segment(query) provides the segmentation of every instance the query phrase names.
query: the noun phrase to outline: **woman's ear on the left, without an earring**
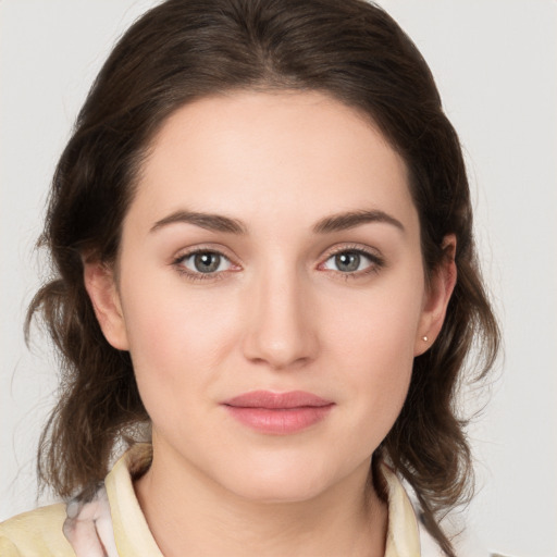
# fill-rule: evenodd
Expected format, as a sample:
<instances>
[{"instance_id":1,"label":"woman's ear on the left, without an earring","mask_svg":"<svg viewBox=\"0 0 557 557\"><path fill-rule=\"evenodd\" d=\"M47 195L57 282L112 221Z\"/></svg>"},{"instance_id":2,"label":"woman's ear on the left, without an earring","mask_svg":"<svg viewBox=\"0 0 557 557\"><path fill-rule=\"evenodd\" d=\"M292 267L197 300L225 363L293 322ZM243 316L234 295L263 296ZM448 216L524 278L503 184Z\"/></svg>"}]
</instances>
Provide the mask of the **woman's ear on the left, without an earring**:
<instances>
[{"instance_id":1,"label":"woman's ear on the left, without an earring","mask_svg":"<svg viewBox=\"0 0 557 557\"><path fill-rule=\"evenodd\" d=\"M85 289L104 338L117 350L127 350L127 333L114 271L100 261L84 259Z\"/></svg>"}]
</instances>

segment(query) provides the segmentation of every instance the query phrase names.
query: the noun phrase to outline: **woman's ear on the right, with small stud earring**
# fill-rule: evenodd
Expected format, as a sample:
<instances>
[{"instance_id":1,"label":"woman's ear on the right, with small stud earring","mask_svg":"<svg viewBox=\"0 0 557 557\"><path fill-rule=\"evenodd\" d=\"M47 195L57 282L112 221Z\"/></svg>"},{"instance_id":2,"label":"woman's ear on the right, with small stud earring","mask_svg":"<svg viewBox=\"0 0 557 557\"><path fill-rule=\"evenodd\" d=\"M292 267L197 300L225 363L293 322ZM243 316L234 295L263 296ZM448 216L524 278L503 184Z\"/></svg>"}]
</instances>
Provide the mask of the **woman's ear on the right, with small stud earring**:
<instances>
[{"instance_id":1,"label":"woman's ear on the right, with small stud earring","mask_svg":"<svg viewBox=\"0 0 557 557\"><path fill-rule=\"evenodd\" d=\"M444 252L443 261L433 271L425 292L422 314L418 326L418 336L414 343L414 356L420 356L431 347L445 321L448 301L457 283L456 248L457 240L455 235L449 234L445 236L442 246Z\"/></svg>"}]
</instances>

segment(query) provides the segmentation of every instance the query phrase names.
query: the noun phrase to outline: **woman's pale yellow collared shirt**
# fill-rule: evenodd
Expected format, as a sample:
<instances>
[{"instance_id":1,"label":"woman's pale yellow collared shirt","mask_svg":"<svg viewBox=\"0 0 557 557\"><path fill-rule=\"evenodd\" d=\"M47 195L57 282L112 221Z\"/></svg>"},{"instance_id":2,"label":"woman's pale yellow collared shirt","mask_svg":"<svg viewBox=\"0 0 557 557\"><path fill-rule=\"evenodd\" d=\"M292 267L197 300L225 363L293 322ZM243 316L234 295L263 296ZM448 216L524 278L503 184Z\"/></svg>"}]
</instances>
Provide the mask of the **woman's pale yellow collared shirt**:
<instances>
[{"instance_id":1,"label":"woman's pale yellow collared shirt","mask_svg":"<svg viewBox=\"0 0 557 557\"><path fill-rule=\"evenodd\" d=\"M114 465L92 500L57 504L0 524L2 557L163 557L135 495L133 478L151 460L137 444ZM420 533L412 505L386 466L388 529L385 557L419 557Z\"/></svg>"}]
</instances>

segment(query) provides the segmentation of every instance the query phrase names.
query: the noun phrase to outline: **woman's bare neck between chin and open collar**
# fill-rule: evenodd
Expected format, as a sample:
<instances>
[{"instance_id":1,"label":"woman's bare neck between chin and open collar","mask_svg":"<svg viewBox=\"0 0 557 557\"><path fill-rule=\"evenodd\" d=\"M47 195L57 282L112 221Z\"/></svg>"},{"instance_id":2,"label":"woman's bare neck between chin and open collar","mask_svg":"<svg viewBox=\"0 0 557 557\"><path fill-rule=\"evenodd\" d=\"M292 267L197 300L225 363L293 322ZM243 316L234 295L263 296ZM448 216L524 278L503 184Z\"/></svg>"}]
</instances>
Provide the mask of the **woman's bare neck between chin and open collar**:
<instances>
[{"instance_id":1,"label":"woman's bare neck between chin and open collar","mask_svg":"<svg viewBox=\"0 0 557 557\"><path fill-rule=\"evenodd\" d=\"M384 555L386 505L367 488L369 462L319 495L297 502L242 497L199 470L159 459L135 483L165 557ZM246 550L249 548L249 550Z\"/></svg>"}]
</instances>

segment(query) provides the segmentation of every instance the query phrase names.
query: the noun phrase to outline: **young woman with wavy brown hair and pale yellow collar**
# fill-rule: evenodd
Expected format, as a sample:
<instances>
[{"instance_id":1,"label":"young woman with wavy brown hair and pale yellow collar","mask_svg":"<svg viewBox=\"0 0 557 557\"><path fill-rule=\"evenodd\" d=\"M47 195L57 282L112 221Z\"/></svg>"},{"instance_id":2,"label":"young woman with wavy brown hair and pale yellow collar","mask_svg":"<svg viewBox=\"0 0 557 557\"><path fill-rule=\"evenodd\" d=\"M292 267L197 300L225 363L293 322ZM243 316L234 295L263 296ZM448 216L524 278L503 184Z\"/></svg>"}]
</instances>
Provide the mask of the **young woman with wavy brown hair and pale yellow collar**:
<instances>
[{"instance_id":1,"label":"young woman with wavy brown hair and pale yellow collar","mask_svg":"<svg viewBox=\"0 0 557 557\"><path fill-rule=\"evenodd\" d=\"M454 555L456 385L498 335L458 138L388 15L148 12L78 116L44 242L59 276L29 319L65 388L39 473L75 498L2 524L2 555L419 555L398 478Z\"/></svg>"}]
</instances>

